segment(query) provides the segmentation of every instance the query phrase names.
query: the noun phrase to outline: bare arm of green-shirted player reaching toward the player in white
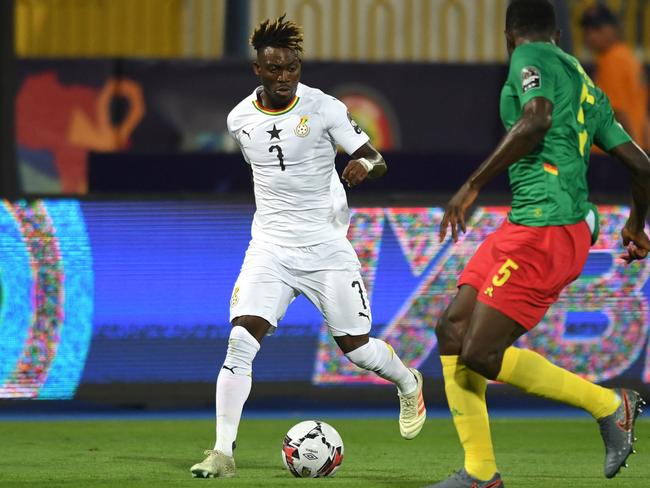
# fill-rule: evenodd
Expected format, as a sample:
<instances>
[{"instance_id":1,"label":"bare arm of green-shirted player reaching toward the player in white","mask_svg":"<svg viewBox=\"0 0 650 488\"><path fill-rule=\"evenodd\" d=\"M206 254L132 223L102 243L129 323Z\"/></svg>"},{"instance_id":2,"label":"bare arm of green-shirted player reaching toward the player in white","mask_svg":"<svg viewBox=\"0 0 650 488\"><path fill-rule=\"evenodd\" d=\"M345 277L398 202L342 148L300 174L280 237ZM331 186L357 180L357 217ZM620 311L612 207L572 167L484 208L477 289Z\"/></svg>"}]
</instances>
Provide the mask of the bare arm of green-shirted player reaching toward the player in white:
<instances>
[{"instance_id":1,"label":"bare arm of green-shirted player reaching toward the player in white","mask_svg":"<svg viewBox=\"0 0 650 488\"><path fill-rule=\"evenodd\" d=\"M449 200L440 223L440 242L447 236L449 225L452 239L454 242L458 241L458 228L460 227L462 232L466 231L465 212L474 203L481 188L508 166L535 150L551 128L552 114L553 104L543 97L533 98L524 106L521 117L494 152Z\"/></svg>"}]
</instances>

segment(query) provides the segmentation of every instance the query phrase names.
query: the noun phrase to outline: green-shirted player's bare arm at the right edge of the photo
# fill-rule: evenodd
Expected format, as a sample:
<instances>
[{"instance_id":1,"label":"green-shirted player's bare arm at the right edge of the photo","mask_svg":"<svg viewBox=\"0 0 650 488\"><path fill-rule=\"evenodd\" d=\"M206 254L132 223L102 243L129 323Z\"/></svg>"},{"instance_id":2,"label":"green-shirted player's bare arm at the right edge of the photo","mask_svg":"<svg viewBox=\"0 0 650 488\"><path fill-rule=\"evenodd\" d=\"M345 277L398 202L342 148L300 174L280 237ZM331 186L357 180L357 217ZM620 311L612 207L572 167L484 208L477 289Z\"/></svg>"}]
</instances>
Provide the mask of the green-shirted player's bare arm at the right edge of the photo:
<instances>
[{"instance_id":1,"label":"green-shirted player's bare arm at the right edge of the photo","mask_svg":"<svg viewBox=\"0 0 650 488\"><path fill-rule=\"evenodd\" d=\"M650 206L650 159L634 142L626 142L611 149L609 153L618 159L630 173L632 208L621 236L626 253L621 258L631 263L645 259L650 252L650 239L646 235L645 221Z\"/></svg>"}]
</instances>

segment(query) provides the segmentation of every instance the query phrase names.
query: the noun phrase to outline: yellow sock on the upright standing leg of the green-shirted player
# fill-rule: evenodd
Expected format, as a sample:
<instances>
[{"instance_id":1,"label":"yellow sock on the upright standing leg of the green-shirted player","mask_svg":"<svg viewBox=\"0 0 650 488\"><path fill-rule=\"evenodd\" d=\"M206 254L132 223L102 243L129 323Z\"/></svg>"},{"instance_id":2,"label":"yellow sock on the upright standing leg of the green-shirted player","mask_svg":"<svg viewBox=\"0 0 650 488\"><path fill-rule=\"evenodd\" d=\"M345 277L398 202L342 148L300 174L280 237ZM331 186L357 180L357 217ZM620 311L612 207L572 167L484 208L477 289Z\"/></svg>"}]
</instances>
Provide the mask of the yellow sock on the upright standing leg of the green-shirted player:
<instances>
[{"instance_id":1,"label":"yellow sock on the upright standing leg of the green-shirted player","mask_svg":"<svg viewBox=\"0 0 650 488\"><path fill-rule=\"evenodd\" d=\"M459 363L458 356L440 356L440 360L449 410L465 450L465 470L489 480L497 466L485 403L487 380Z\"/></svg>"}]
</instances>

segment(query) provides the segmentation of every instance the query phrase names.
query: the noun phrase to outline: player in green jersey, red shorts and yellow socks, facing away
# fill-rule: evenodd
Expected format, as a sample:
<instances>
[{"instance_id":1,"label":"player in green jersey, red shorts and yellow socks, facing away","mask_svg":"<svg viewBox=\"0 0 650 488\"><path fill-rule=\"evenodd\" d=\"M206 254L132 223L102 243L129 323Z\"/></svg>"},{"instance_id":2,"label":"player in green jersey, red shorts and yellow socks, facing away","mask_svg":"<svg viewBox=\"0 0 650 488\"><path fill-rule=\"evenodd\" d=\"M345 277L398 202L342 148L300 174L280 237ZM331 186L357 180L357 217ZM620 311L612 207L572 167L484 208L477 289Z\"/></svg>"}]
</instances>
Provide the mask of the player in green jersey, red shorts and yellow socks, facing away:
<instances>
[{"instance_id":1,"label":"player in green jersey, red shorts and yellow socks, facing away","mask_svg":"<svg viewBox=\"0 0 650 488\"><path fill-rule=\"evenodd\" d=\"M501 93L507 134L449 201L440 227L454 241L480 189L508 169L512 210L479 247L460 276L458 294L436 332L445 392L465 450L464 467L438 488L500 488L485 403L487 380L498 380L582 408L598 421L605 476L632 452L643 400L626 389L593 384L512 344L532 329L581 273L597 238L597 209L586 182L592 143L631 174L633 204L622 230L627 262L650 250L644 225L650 202L650 160L614 119L606 96L580 63L557 47L547 0L514 0L506 14L510 71Z\"/></svg>"}]
</instances>

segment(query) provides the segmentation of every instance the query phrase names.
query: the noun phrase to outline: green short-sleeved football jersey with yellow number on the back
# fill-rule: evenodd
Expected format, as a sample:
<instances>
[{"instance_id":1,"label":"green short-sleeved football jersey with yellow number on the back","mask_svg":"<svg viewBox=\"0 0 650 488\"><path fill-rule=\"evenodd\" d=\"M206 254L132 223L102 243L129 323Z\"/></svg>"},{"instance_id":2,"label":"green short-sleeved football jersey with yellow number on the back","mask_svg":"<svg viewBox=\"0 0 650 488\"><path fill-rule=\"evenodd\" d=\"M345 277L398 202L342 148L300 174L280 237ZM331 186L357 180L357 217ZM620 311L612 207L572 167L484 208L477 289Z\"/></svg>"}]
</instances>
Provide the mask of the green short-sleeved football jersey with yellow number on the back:
<instances>
[{"instance_id":1,"label":"green short-sleeved football jersey with yellow number on the back","mask_svg":"<svg viewBox=\"0 0 650 488\"><path fill-rule=\"evenodd\" d=\"M512 54L500 104L507 130L536 97L553 103L553 121L540 145L508 169L509 219L533 227L575 224L593 208L587 188L591 145L607 151L630 136L578 60L547 42L522 44Z\"/></svg>"}]
</instances>

